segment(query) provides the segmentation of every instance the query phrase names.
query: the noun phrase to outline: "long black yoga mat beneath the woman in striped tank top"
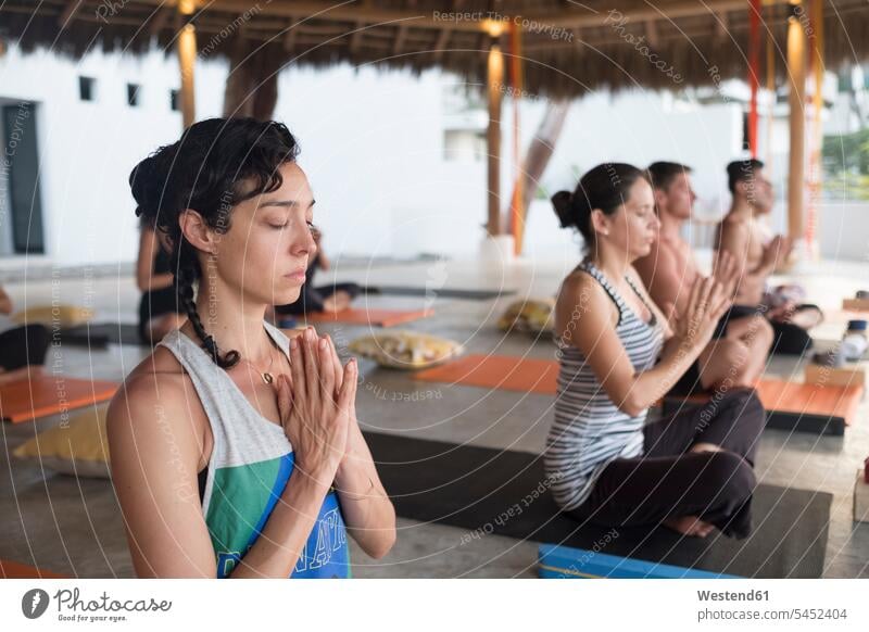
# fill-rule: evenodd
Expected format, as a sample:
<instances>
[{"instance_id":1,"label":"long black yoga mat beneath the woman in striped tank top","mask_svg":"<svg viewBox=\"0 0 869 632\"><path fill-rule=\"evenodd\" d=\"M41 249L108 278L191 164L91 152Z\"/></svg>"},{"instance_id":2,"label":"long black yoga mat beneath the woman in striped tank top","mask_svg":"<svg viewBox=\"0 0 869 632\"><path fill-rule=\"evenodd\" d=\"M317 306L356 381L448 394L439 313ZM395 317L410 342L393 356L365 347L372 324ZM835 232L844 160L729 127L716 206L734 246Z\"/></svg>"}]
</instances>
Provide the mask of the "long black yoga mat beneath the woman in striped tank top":
<instances>
[{"instance_id":1,"label":"long black yoga mat beneath the woman in striped tank top","mask_svg":"<svg viewBox=\"0 0 869 632\"><path fill-rule=\"evenodd\" d=\"M819 578L832 494L758 485L745 540L715 531L688 538L666 527L580 526L558 511L542 457L391 434L366 433L399 516L467 529L464 546L489 533L753 578ZM607 536L607 534L609 534Z\"/></svg>"}]
</instances>

